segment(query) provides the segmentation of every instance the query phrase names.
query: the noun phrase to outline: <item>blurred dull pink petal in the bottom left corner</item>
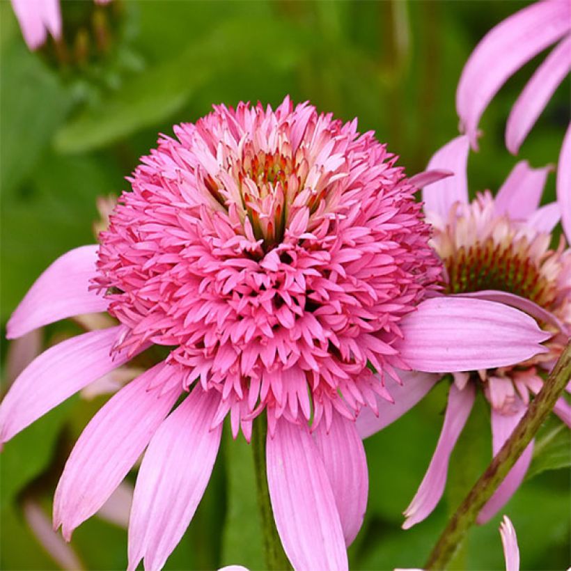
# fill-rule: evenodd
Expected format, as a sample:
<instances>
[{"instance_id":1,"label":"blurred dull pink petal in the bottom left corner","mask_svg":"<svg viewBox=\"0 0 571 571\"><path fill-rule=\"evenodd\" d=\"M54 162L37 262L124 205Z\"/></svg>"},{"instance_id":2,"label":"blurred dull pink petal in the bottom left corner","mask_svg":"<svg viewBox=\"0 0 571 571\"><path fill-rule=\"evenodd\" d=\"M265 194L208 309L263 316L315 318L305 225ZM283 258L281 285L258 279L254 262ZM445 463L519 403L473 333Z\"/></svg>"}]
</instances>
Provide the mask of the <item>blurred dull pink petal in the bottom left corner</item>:
<instances>
[{"instance_id":1,"label":"blurred dull pink petal in the bottom left corner","mask_svg":"<svg viewBox=\"0 0 571 571\"><path fill-rule=\"evenodd\" d=\"M49 517L44 513L38 502L33 500L24 501L22 513L24 514L24 519L26 519L26 524L28 524L42 547L58 564L59 568L69 571L85 569L72 546L65 542L59 533L54 531L52 522L49 521Z\"/></svg>"}]
</instances>

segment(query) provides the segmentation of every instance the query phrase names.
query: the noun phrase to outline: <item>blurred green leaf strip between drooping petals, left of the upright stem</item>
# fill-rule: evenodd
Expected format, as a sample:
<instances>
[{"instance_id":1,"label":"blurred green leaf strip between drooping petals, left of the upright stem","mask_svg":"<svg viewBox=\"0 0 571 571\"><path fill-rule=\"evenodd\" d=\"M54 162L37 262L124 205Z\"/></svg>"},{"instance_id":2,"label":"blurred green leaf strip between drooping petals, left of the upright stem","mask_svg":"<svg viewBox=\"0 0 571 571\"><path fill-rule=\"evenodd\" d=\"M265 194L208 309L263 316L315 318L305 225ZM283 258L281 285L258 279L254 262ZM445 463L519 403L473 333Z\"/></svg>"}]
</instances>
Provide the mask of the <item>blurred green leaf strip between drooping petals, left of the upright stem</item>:
<instances>
[{"instance_id":1,"label":"blurred green leaf strip between drooping petals, left of the upright stem","mask_svg":"<svg viewBox=\"0 0 571 571\"><path fill-rule=\"evenodd\" d=\"M242 435L233 440L229 430L225 437L228 510L222 540L222 564L263 569L263 535L256 501L252 447Z\"/></svg>"}]
</instances>

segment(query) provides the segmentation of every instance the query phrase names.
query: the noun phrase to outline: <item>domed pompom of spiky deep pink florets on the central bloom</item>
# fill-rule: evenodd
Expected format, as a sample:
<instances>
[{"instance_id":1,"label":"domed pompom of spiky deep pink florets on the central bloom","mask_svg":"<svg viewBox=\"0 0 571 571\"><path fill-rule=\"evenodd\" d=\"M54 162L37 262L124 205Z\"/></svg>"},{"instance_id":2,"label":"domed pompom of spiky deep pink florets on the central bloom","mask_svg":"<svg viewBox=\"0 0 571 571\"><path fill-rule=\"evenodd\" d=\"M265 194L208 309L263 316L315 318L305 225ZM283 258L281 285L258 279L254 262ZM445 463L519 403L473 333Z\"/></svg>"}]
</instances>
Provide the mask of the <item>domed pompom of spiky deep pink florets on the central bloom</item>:
<instances>
[{"instance_id":1,"label":"domed pompom of spiky deep pink florets on the central bloom","mask_svg":"<svg viewBox=\"0 0 571 571\"><path fill-rule=\"evenodd\" d=\"M315 425L384 394L399 322L439 277L414 188L357 122L314 107L215 107L143 157L101 234L94 286L121 347L222 394L249 435L267 409Z\"/></svg>"}]
</instances>

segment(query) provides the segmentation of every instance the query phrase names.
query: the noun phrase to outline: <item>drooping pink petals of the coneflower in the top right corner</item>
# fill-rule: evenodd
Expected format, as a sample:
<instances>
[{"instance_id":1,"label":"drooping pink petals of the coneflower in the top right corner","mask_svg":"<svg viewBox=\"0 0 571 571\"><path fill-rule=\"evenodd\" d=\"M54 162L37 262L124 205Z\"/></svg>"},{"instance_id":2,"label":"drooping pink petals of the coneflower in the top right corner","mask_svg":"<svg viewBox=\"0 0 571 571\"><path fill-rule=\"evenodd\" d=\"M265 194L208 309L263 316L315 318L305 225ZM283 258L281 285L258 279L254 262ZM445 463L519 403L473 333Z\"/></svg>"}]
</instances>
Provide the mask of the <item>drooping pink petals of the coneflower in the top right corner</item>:
<instances>
[{"instance_id":1,"label":"drooping pink petals of the coneflower in the top right corner","mask_svg":"<svg viewBox=\"0 0 571 571\"><path fill-rule=\"evenodd\" d=\"M558 43L557 43L558 42ZM506 125L506 146L517 155L556 88L571 70L571 2L544 0L511 15L490 30L469 57L456 91L460 129L478 148L478 123L494 95L519 68L547 47L556 47L517 98ZM559 157L557 198L571 235L571 125Z\"/></svg>"}]
</instances>

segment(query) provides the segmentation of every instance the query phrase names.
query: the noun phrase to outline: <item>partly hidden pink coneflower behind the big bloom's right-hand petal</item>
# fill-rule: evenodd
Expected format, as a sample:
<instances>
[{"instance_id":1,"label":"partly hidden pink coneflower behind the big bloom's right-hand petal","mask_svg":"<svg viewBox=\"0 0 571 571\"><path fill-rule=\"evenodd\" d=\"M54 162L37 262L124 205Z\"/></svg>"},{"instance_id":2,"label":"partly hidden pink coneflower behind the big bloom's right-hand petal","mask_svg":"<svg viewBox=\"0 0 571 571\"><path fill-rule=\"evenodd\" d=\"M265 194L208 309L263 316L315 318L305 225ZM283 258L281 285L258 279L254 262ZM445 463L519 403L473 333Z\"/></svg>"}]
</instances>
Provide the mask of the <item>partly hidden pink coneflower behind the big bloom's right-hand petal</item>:
<instances>
[{"instance_id":1,"label":"partly hidden pink coneflower behind the big bloom's right-hand petal","mask_svg":"<svg viewBox=\"0 0 571 571\"><path fill-rule=\"evenodd\" d=\"M560 218L558 205L538 208L549 169L531 169L520 162L495 198L486 192L469 203L468 151L467 136L441 148L432 157L429 169L449 169L457 174L423 190L425 213L435 228L430 243L444 263L444 292L517 307L533 316L549 335L542 353L509 366L435 369L435 373L453 373L454 382L435 454L405 511L405 529L428 517L439 502L448 461L471 412L476 390L482 390L490 402L495 455L522 419L530 396L541 389L541 371L554 366L571 334L571 251L563 237L556 249L550 249L551 232ZM402 387L389 389L398 407L391 411L391 405L380 403L378 418L368 409L361 411L357 419L361 436L367 437L398 418L419 402L439 378L406 373ZM571 407L564 398L558 400L554 412L571 425ZM533 441L480 511L479 523L490 519L517 490L532 452Z\"/></svg>"}]
</instances>

